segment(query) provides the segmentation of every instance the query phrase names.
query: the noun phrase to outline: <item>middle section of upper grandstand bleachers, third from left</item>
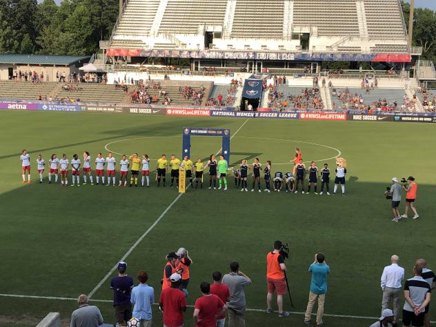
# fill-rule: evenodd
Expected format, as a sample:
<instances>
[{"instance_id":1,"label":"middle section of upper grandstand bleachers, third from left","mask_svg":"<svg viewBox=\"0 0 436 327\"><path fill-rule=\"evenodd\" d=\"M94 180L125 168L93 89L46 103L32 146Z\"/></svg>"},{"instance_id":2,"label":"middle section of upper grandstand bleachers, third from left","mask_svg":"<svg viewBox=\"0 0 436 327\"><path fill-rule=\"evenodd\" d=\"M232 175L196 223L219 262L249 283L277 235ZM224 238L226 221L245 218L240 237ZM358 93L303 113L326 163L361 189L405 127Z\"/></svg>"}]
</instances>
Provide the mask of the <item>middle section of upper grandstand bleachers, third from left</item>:
<instances>
[{"instance_id":1,"label":"middle section of upper grandstand bleachers, third from left","mask_svg":"<svg viewBox=\"0 0 436 327\"><path fill-rule=\"evenodd\" d=\"M233 19L232 37L282 39L283 21L283 1L238 0Z\"/></svg>"}]
</instances>

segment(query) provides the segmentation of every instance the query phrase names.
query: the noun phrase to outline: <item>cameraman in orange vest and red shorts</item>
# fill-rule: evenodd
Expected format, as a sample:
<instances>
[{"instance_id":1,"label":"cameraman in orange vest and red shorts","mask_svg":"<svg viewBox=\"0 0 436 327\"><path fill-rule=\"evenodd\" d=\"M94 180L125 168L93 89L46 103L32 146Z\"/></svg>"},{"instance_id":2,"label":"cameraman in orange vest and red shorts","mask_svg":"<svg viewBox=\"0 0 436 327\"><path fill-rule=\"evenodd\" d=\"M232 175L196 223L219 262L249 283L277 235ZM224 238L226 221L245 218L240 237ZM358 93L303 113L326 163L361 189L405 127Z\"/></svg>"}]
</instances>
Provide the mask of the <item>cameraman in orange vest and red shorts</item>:
<instances>
[{"instance_id":1,"label":"cameraman in orange vest and red shorts","mask_svg":"<svg viewBox=\"0 0 436 327\"><path fill-rule=\"evenodd\" d=\"M266 295L266 312L273 313L271 302L273 294L277 293L277 306L279 307L279 317L287 317L288 312L283 310L283 295L286 294L285 280L285 259L280 250L283 244L281 241L274 242L274 249L266 255L266 284L268 286L268 295Z\"/></svg>"}]
</instances>

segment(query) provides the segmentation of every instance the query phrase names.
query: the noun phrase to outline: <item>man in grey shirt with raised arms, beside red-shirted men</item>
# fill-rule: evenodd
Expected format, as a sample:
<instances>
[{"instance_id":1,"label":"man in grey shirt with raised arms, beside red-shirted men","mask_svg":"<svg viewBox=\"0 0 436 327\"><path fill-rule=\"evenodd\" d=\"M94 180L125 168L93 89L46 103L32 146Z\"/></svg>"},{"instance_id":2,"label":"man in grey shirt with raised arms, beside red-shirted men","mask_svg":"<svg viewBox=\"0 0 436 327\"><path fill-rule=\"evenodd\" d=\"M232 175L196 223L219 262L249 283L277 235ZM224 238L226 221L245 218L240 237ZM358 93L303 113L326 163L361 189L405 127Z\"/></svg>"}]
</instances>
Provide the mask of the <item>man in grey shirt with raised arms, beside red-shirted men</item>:
<instances>
[{"instance_id":1,"label":"man in grey shirt with raised arms, beside red-shirted men","mask_svg":"<svg viewBox=\"0 0 436 327\"><path fill-rule=\"evenodd\" d=\"M244 287L251 284L251 279L239 270L239 264L233 261L230 264L230 273L224 275L222 283L230 290L230 299L227 302L228 327L244 327L246 312L246 297Z\"/></svg>"}]
</instances>

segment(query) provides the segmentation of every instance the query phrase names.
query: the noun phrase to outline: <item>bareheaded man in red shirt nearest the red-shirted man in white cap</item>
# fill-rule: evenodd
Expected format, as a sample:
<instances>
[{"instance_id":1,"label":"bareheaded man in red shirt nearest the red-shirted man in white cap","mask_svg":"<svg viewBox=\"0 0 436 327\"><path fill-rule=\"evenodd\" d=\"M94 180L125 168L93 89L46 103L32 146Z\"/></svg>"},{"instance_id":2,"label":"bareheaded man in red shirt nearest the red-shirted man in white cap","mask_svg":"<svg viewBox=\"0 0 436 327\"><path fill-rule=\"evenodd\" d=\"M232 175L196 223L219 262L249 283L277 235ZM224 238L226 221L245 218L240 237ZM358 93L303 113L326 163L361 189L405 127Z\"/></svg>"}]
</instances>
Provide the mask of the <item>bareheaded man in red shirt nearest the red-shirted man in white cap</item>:
<instances>
[{"instance_id":1,"label":"bareheaded man in red shirt nearest the red-shirted man in white cap","mask_svg":"<svg viewBox=\"0 0 436 327\"><path fill-rule=\"evenodd\" d=\"M210 284L203 281L200 284L202 297L195 301L194 322L196 327L216 327L217 317L226 312L226 304L217 295L210 294ZM218 314L217 314L217 311Z\"/></svg>"}]
</instances>

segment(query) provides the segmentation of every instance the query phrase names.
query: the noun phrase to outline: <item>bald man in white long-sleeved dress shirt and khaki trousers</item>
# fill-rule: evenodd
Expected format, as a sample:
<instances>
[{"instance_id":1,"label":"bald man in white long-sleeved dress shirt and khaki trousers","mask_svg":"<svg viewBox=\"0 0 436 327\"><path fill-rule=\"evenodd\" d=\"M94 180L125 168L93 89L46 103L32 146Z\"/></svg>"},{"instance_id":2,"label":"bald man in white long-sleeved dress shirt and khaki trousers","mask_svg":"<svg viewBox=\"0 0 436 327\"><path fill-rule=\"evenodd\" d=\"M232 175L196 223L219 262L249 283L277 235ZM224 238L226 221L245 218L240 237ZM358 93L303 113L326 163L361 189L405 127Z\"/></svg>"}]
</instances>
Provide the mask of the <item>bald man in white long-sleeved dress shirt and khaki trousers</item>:
<instances>
[{"instance_id":1,"label":"bald man in white long-sleeved dress shirt and khaki trousers","mask_svg":"<svg viewBox=\"0 0 436 327\"><path fill-rule=\"evenodd\" d=\"M398 324L399 320L399 294L402 290L402 280L404 279L404 268L398 266L399 257L393 255L390 257L390 266L384 267L381 275L381 290L383 290L383 299L381 300L381 311L387 309L390 301L393 300L393 326Z\"/></svg>"}]
</instances>

